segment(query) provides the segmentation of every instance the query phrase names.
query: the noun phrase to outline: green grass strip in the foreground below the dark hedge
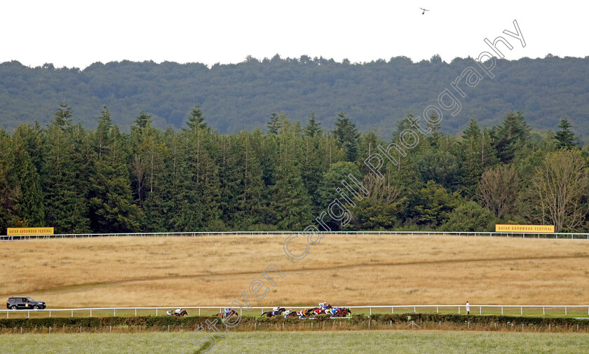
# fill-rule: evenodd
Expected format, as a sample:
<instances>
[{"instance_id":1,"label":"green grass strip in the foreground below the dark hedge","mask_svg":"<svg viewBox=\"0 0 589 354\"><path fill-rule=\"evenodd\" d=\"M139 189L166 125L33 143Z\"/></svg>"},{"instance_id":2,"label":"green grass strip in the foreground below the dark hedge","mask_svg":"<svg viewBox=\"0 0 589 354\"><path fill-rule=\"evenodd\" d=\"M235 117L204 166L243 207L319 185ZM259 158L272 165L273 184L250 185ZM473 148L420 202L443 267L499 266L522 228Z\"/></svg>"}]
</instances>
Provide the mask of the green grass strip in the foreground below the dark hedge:
<instances>
[{"instance_id":1,"label":"green grass strip in the foreground below the dark hedge","mask_svg":"<svg viewBox=\"0 0 589 354\"><path fill-rule=\"evenodd\" d=\"M4 334L1 353L196 353L189 332ZM587 334L508 332L231 332L209 353L588 353Z\"/></svg>"}]
</instances>

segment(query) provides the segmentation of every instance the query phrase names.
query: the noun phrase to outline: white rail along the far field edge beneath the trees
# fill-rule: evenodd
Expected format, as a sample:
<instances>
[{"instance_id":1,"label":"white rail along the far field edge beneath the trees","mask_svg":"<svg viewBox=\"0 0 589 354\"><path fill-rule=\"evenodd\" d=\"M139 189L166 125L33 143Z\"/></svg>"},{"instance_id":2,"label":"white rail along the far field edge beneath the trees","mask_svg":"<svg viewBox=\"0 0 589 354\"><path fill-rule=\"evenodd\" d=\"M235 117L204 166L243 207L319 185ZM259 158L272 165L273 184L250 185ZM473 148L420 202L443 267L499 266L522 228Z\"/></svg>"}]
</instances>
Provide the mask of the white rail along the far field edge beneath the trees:
<instances>
[{"instance_id":1,"label":"white rail along the far field edge beneath the trees","mask_svg":"<svg viewBox=\"0 0 589 354\"><path fill-rule=\"evenodd\" d=\"M303 233L303 231L219 231L219 232L159 232L159 233L59 233L55 235L22 235L22 236L0 236L0 240L30 240L36 238L79 238L79 237L112 237L112 236L135 236L135 237L198 237L212 235L288 235L291 233ZM377 234L377 235L457 235L457 236L502 236L502 237L532 237L532 238L567 238L567 239L586 239L589 240L589 233L543 233L543 232L460 232L460 231L330 231L330 234Z\"/></svg>"}]
</instances>

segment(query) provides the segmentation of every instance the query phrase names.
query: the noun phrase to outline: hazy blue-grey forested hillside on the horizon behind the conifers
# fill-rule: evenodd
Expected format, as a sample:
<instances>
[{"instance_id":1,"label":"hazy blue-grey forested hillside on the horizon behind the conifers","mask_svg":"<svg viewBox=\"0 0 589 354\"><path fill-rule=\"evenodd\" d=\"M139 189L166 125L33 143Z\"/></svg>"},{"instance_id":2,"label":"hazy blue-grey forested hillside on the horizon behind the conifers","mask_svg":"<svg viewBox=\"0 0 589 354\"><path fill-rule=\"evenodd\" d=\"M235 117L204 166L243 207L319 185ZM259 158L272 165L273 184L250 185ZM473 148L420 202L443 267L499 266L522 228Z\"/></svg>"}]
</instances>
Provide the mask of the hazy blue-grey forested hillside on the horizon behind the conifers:
<instances>
[{"instance_id":1,"label":"hazy blue-grey forested hillside on the horizon behind the conifers","mask_svg":"<svg viewBox=\"0 0 589 354\"><path fill-rule=\"evenodd\" d=\"M21 123L50 123L57 104L74 107L84 128L95 128L96 112L107 105L123 132L130 132L137 112L151 114L151 125L180 128L186 112L199 102L208 124L222 134L264 128L269 112L283 111L304 124L309 114L333 126L340 111L353 117L360 131L391 136L407 114L421 114L473 59L412 62L407 57L351 63L323 57L247 57L238 64L175 62L96 62L85 69L53 64L25 67L0 64L0 128L13 132ZM589 139L589 57L497 60L494 79L485 77L466 90L461 112L442 124L456 135L477 118L481 127L501 123L506 111L526 112L534 129L557 130L568 118L583 142Z\"/></svg>"}]
</instances>

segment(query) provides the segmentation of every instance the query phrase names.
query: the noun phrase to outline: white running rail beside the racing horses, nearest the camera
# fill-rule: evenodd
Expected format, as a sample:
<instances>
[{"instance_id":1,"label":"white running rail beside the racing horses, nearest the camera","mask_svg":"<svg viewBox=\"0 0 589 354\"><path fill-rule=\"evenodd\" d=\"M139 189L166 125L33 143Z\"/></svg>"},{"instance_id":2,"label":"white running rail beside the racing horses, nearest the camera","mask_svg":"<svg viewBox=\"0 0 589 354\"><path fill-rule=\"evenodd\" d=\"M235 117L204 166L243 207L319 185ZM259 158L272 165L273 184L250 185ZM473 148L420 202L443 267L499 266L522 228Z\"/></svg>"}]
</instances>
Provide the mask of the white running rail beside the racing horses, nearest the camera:
<instances>
[{"instance_id":1,"label":"white running rail beside the racing horses, nearest the camera","mask_svg":"<svg viewBox=\"0 0 589 354\"><path fill-rule=\"evenodd\" d=\"M71 317L74 317L74 311L90 311L90 317L92 317L92 311L113 311L113 316L116 316L116 310L135 310L135 316L137 316L137 310L155 310L155 315L158 315L159 310L166 310L172 308L184 308L184 309L198 309L198 315L201 315L201 309L219 309L219 312L223 311L223 308L226 306L165 306L165 307L94 307L94 308L45 308L43 310L3 310L0 309L1 312L6 312L6 318L10 318L11 313L24 313L27 311L27 318L31 317L31 312L33 313L48 313L48 317L51 317L51 313L55 312L69 312L71 313ZM285 308L313 308L315 306L283 306ZM372 315L372 309L379 309L379 308L391 308L391 313L395 313L395 308L413 308L413 312L417 313L417 308L435 308L435 312L439 313L440 308L456 308L457 312L460 314L461 308L464 308L464 312L466 312L465 305L386 305L386 306L345 306L346 308L354 309L354 308L367 308L370 310L370 315ZM270 310L271 306L252 306L252 309L261 310L260 313L264 313L264 310ZM483 308L501 308L501 315L503 315L503 310L505 308L519 308L520 315L524 315L524 308L542 308L542 315L546 315L546 308L562 308L564 310L564 315L568 315L569 308L587 308L587 315L589 316L589 305L470 305L470 309L473 308L479 309L479 314L482 315ZM243 315L243 308L240 309L240 315ZM247 310L246 310L247 311ZM406 312L405 312L406 313Z\"/></svg>"}]
</instances>

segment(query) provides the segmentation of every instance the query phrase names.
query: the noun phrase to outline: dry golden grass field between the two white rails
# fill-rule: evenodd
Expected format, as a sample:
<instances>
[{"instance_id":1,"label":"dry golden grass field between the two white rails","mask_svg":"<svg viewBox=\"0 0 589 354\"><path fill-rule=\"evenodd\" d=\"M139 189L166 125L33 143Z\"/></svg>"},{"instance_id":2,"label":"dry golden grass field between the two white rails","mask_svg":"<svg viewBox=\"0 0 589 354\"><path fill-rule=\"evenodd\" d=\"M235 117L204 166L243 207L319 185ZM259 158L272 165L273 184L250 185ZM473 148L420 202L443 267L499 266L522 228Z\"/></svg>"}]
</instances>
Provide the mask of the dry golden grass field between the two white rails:
<instances>
[{"instance_id":1,"label":"dry golden grass field between the two white rails","mask_svg":"<svg viewBox=\"0 0 589 354\"><path fill-rule=\"evenodd\" d=\"M77 238L0 243L0 299L50 308L226 306L269 264L284 278L253 306L587 304L589 241L327 235L301 261L285 236ZM297 239L297 240L300 240ZM292 242L301 250L302 243Z\"/></svg>"}]
</instances>

